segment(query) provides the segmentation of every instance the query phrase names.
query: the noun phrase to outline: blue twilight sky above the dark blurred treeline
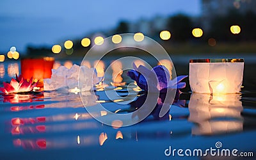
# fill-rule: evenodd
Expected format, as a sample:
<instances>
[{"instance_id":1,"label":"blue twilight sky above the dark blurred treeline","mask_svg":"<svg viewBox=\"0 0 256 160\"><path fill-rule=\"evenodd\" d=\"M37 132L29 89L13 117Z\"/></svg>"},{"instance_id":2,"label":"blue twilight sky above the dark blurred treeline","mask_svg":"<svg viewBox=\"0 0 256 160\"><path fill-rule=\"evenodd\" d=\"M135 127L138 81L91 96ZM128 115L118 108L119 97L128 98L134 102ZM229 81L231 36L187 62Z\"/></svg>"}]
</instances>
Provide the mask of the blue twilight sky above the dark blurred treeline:
<instances>
[{"instance_id":1,"label":"blue twilight sky above the dark blurred treeline","mask_svg":"<svg viewBox=\"0 0 256 160\"><path fill-rule=\"evenodd\" d=\"M136 21L180 12L199 15L200 0L1 0L0 51L15 46L22 52L28 44L50 46L115 28L122 19Z\"/></svg>"}]
</instances>

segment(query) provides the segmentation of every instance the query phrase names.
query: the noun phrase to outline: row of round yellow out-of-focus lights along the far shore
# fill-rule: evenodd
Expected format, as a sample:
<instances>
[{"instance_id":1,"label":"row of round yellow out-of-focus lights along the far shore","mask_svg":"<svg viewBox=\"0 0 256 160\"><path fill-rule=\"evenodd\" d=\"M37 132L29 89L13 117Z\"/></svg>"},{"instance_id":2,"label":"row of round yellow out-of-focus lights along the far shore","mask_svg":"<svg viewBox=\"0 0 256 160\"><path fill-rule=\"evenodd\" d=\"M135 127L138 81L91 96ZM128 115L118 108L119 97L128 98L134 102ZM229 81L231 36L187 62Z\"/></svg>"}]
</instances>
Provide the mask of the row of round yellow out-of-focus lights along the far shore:
<instances>
[{"instance_id":1,"label":"row of round yellow out-of-focus lights along the far shore","mask_svg":"<svg viewBox=\"0 0 256 160\"><path fill-rule=\"evenodd\" d=\"M230 26L230 32L234 35L238 35L241 32L241 28L238 25ZM195 38L200 38L204 35L204 31L201 28L194 28L191 33ZM170 31L165 30L165 31L160 32L159 37L161 38L161 40L166 41L166 40L170 40L170 38L172 37L172 34L171 34ZM134 34L134 40L136 42L142 42L144 40L143 33L135 33ZM104 38L102 36L96 36L94 38L93 42L94 42L95 45L102 45L102 44L104 44ZM122 36L121 35L112 36L112 42L114 44L120 44L120 42L122 42ZM81 45L83 47L89 47L90 44L92 44L90 38L86 37L86 38L83 38L81 40ZM208 44L212 47L215 46L216 45L215 38L209 38L208 39ZM73 46L74 46L74 44L71 40L65 41L64 48L65 48L66 54L70 55L70 54L73 53L73 51L74 51ZM52 46L52 52L54 54L59 54L61 52L61 50L62 50L62 48L61 48L61 45L59 45L59 44L55 44L55 45ZM20 54L19 54L19 52L16 51L15 47L11 47L10 51L8 51L6 56L9 59L18 60L19 57L20 57ZM0 62L3 62L5 59L6 59L5 55L0 54Z\"/></svg>"}]
</instances>

